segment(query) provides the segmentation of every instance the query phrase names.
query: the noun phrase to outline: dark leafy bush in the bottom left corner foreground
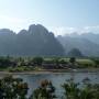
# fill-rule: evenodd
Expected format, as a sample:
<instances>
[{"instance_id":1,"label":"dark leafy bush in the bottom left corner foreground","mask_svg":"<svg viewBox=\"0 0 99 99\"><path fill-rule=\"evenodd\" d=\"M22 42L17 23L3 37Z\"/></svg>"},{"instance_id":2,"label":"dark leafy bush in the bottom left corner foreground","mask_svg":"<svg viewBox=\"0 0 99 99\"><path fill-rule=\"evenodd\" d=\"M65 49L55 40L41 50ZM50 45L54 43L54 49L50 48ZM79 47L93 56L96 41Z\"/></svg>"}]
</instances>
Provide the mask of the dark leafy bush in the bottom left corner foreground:
<instances>
[{"instance_id":1,"label":"dark leafy bush in the bottom left corner foreground","mask_svg":"<svg viewBox=\"0 0 99 99\"><path fill-rule=\"evenodd\" d=\"M0 99L26 99L28 84L12 76L0 79Z\"/></svg>"}]
</instances>

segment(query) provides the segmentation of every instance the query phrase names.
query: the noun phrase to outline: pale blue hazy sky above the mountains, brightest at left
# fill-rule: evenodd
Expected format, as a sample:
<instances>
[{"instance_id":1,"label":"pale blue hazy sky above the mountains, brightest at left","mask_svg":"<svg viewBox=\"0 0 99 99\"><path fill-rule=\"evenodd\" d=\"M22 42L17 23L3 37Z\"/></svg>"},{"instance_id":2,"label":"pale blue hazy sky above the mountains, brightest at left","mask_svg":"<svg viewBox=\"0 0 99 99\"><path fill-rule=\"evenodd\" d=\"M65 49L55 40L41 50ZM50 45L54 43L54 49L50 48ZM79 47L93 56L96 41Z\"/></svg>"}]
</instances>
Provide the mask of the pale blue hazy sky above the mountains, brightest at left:
<instances>
[{"instance_id":1,"label":"pale blue hazy sky above the mountains, brightest at left","mask_svg":"<svg viewBox=\"0 0 99 99\"><path fill-rule=\"evenodd\" d=\"M99 0L0 0L0 29L43 24L57 34L99 32Z\"/></svg>"}]
</instances>

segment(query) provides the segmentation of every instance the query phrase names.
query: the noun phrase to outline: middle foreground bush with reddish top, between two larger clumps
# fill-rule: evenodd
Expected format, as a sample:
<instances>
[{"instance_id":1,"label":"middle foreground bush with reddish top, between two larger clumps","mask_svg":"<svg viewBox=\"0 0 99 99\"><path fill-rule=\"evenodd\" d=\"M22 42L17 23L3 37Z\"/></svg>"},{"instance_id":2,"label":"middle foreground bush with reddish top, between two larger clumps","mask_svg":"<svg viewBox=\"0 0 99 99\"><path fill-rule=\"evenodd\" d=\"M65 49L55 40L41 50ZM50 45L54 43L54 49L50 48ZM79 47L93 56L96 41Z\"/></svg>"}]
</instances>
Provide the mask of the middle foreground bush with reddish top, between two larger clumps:
<instances>
[{"instance_id":1,"label":"middle foreground bush with reddish top, between two larger clumps","mask_svg":"<svg viewBox=\"0 0 99 99\"><path fill-rule=\"evenodd\" d=\"M42 80L41 86L33 91L30 99L54 99L55 87L48 80Z\"/></svg>"}]
</instances>

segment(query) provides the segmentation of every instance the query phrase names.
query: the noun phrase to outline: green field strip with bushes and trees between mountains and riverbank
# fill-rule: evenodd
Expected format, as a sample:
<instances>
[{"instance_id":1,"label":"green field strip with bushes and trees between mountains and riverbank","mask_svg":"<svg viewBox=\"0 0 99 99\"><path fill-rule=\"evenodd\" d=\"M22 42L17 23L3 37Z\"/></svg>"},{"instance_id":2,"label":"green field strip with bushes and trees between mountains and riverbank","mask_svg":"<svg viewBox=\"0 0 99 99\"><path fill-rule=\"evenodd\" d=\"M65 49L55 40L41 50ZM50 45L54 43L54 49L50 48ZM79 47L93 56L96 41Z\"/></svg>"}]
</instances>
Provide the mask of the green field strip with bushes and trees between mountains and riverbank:
<instances>
[{"instance_id":1,"label":"green field strip with bushes and trees between mountains and riverbank","mask_svg":"<svg viewBox=\"0 0 99 99\"><path fill-rule=\"evenodd\" d=\"M42 70L44 65L52 65L55 68L63 69L64 66L70 68L99 68L99 58L72 58L67 57L0 57L0 70L9 72L30 72ZM63 68L61 68L62 66Z\"/></svg>"}]
</instances>

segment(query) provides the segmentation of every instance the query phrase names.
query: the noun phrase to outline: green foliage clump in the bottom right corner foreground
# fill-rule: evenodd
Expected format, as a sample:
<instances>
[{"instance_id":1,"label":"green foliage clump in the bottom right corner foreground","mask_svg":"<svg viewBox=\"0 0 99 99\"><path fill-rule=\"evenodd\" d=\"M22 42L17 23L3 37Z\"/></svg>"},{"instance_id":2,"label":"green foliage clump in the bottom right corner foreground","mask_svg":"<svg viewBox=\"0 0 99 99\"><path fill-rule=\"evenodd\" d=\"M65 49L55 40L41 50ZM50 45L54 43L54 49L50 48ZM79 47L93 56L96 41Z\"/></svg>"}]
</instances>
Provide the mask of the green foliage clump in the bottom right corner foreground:
<instances>
[{"instance_id":1,"label":"green foliage clump in the bottom right corner foreground","mask_svg":"<svg viewBox=\"0 0 99 99\"><path fill-rule=\"evenodd\" d=\"M99 99L99 84L90 84L88 78L82 84L74 82L69 79L63 85L65 90L64 99Z\"/></svg>"}]
</instances>

